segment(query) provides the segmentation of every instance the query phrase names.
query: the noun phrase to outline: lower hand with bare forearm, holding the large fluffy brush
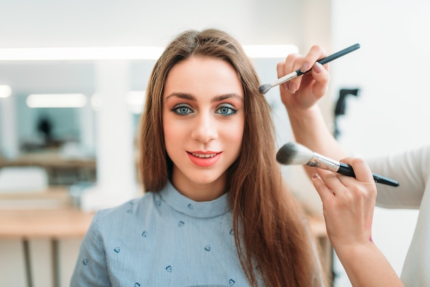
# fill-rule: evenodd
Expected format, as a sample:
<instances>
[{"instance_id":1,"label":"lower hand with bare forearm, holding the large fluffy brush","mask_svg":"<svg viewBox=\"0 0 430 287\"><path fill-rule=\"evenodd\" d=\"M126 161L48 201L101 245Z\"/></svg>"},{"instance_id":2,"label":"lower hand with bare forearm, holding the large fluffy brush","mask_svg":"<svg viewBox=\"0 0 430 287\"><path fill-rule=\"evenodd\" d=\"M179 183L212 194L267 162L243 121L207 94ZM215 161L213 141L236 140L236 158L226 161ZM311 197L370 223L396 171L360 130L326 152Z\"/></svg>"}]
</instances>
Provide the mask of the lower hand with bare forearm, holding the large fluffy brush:
<instances>
[{"instance_id":1,"label":"lower hand with bare forearm, holding the large fluffy brush","mask_svg":"<svg viewBox=\"0 0 430 287\"><path fill-rule=\"evenodd\" d=\"M323 203L328 238L352 286L404 286L372 241L376 184L368 165L343 159L356 178L315 168L313 184Z\"/></svg>"}]
</instances>

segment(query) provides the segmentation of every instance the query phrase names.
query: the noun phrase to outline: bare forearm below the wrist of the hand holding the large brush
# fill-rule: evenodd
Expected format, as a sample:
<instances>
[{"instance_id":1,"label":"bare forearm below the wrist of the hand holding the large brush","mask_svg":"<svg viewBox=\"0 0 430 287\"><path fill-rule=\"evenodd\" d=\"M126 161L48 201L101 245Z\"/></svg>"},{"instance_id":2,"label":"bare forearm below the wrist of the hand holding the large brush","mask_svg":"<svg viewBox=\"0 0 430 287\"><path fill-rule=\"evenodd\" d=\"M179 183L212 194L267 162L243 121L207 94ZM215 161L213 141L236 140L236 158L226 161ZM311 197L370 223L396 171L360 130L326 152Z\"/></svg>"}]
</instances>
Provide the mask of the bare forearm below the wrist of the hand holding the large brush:
<instances>
[{"instance_id":1,"label":"bare forearm below the wrist of the hand holding the large brush","mask_svg":"<svg viewBox=\"0 0 430 287\"><path fill-rule=\"evenodd\" d=\"M352 286L404 286L383 253L372 242L335 250Z\"/></svg>"}]
</instances>

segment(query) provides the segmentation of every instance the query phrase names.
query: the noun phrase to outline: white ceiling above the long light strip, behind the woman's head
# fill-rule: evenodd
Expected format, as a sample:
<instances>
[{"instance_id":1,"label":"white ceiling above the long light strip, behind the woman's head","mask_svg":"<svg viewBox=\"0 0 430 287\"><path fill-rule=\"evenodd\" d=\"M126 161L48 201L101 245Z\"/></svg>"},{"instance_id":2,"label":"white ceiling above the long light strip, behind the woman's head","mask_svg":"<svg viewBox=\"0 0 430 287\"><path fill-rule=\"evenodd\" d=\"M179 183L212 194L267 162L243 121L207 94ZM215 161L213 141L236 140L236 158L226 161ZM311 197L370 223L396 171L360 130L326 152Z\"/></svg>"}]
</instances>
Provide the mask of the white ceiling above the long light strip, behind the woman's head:
<instances>
[{"instance_id":1,"label":"white ceiling above the long light strip, behind the woman's head","mask_svg":"<svg viewBox=\"0 0 430 287\"><path fill-rule=\"evenodd\" d=\"M166 45L220 27L244 44L295 43L306 1L0 0L0 48Z\"/></svg>"}]
</instances>

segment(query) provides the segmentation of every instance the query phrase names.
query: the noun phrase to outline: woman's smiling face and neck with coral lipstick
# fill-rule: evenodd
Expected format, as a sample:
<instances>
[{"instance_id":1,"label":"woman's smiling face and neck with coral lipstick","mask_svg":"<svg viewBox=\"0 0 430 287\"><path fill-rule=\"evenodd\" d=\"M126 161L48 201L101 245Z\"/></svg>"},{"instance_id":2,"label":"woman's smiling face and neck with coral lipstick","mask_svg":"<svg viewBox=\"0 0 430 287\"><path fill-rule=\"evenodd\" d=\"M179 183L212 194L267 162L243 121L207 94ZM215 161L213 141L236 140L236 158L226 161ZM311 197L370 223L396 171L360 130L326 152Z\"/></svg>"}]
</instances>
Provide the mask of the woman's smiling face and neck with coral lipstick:
<instances>
[{"instance_id":1,"label":"woman's smiling face and neck with coral lipstick","mask_svg":"<svg viewBox=\"0 0 430 287\"><path fill-rule=\"evenodd\" d=\"M168 73L163 130L172 184L197 201L225 193L227 169L240 154L245 114L242 83L225 60L188 58Z\"/></svg>"}]
</instances>

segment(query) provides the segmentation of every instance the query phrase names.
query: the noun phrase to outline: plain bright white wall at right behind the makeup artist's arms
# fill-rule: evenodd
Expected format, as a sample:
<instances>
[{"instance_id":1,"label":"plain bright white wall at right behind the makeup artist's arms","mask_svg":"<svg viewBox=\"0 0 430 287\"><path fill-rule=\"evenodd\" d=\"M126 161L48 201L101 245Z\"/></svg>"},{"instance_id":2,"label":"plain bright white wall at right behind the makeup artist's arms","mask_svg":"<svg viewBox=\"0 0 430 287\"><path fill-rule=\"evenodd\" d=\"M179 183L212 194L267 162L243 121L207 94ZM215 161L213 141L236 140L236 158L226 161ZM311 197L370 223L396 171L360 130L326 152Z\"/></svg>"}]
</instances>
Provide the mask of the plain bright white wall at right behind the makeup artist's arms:
<instances>
[{"instance_id":1,"label":"plain bright white wall at right behind the makeup artist's arms","mask_svg":"<svg viewBox=\"0 0 430 287\"><path fill-rule=\"evenodd\" d=\"M334 90L361 90L339 117L339 139L351 154L367 157L430 143L429 12L429 1L332 1L333 45L361 44L354 56L332 64ZM398 274L417 216L381 208L374 214L374 242ZM348 284L342 279L338 286Z\"/></svg>"}]
</instances>

